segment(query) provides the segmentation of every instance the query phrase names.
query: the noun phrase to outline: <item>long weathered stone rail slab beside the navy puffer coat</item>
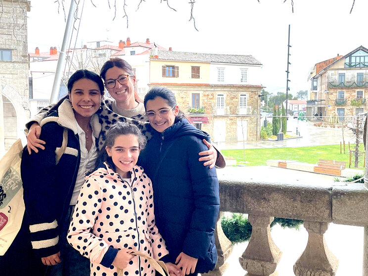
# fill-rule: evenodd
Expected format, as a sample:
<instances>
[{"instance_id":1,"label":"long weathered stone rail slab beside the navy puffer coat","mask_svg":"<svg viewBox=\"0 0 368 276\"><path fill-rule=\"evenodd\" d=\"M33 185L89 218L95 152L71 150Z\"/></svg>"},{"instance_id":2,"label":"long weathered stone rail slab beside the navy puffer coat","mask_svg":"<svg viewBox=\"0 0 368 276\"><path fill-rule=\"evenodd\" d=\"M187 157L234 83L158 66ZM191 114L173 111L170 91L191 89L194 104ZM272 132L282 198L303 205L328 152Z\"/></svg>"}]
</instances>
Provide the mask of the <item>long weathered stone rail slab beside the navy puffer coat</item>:
<instances>
[{"instance_id":1,"label":"long weathered stone rail slab beside the navy puffer coat","mask_svg":"<svg viewBox=\"0 0 368 276\"><path fill-rule=\"evenodd\" d=\"M220 179L220 202L220 210L226 212L332 221L331 186Z\"/></svg>"}]
</instances>

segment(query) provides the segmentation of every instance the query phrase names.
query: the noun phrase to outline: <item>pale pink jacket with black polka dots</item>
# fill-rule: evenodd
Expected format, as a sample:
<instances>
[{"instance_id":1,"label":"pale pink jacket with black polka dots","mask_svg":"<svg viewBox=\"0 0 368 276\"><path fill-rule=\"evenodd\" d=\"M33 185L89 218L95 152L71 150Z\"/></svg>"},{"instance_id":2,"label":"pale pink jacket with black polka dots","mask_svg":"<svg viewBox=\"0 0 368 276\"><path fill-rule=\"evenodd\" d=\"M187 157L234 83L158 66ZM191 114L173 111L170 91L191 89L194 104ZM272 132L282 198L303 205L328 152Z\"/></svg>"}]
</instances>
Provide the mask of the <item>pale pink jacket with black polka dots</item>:
<instances>
[{"instance_id":1,"label":"pale pink jacket with black polka dots","mask_svg":"<svg viewBox=\"0 0 368 276\"><path fill-rule=\"evenodd\" d=\"M91 275L117 276L112 262L120 249L135 249L158 260L169 252L155 226L153 191L143 168L131 171L131 183L106 163L81 188L68 231L68 242L91 261ZM125 276L154 276L147 260L134 257Z\"/></svg>"}]
</instances>

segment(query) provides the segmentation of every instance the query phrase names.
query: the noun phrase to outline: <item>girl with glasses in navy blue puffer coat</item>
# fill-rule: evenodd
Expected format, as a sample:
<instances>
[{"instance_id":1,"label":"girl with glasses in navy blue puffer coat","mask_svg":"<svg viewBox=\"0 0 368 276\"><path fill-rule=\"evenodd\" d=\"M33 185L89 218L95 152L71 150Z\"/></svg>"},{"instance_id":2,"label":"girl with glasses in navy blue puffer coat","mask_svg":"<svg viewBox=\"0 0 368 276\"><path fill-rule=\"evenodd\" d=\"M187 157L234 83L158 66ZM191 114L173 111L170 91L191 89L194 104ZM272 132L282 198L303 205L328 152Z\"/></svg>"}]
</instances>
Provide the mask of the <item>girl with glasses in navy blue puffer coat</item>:
<instances>
[{"instance_id":1,"label":"girl with glasses in navy blue puffer coat","mask_svg":"<svg viewBox=\"0 0 368 276\"><path fill-rule=\"evenodd\" d=\"M195 156L209 136L188 123L167 88L152 88L144 106L155 131L139 164L152 180L156 225L170 252L167 261L177 263L182 275L206 273L217 261L219 185L216 170L201 166Z\"/></svg>"}]
</instances>

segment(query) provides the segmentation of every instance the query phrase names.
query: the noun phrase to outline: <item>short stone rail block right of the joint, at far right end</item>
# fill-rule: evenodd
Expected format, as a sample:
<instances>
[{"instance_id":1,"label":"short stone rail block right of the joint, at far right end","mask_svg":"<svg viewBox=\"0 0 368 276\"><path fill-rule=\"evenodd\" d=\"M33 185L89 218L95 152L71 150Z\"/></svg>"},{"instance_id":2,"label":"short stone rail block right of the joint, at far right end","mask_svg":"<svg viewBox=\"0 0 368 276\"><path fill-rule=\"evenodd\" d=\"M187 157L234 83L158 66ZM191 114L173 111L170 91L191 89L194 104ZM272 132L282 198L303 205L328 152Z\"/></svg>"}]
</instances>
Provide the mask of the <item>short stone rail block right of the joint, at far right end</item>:
<instances>
[{"instance_id":1,"label":"short stone rail block right of the joint, at far right end","mask_svg":"<svg viewBox=\"0 0 368 276\"><path fill-rule=\"evenodd\" d=\"M362 183L333 186L332 222L336 224L368 225L368 190Z\"/></svg>"}]
</instances>

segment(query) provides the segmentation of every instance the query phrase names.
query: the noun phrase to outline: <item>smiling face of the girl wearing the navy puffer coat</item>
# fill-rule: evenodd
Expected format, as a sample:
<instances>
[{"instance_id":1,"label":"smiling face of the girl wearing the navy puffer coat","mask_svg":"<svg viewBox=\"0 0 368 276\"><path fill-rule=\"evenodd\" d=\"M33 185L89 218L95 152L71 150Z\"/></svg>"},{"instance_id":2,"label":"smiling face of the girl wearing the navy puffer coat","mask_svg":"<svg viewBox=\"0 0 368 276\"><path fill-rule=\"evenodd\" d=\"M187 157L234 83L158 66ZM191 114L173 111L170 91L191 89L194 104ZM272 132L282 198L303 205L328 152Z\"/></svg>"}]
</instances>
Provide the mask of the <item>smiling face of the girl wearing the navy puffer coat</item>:
<instances>
[{"instance_id":1,"label":"smiling face of the girl wearing the navy puffer coat","mask_svg":"<svg viewBox=\"0 0 368 276\"><path fill-rule=\"evenodd\" d=\"M145 105L146 113L155 112L156 115L148 116L149 124L158 132L164 132L167 128L174 125L175 117L179 114L178 105L172 108L162 97L155 97L148 100ZM164 115L159 115L160 110L168 110Z\"/></svg>"}]
</instances>

